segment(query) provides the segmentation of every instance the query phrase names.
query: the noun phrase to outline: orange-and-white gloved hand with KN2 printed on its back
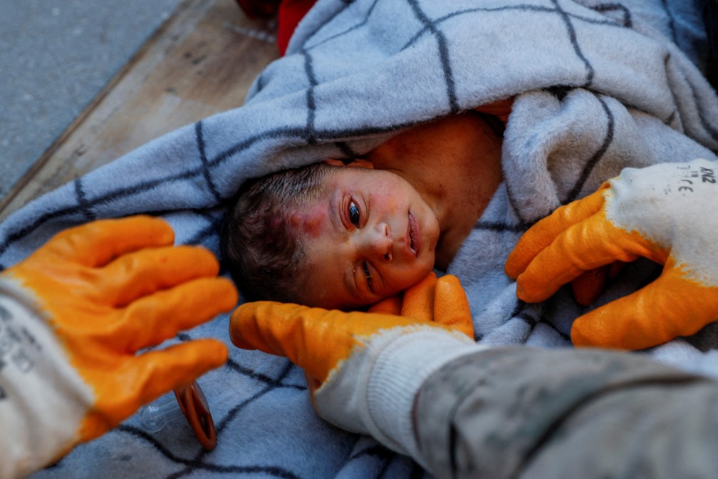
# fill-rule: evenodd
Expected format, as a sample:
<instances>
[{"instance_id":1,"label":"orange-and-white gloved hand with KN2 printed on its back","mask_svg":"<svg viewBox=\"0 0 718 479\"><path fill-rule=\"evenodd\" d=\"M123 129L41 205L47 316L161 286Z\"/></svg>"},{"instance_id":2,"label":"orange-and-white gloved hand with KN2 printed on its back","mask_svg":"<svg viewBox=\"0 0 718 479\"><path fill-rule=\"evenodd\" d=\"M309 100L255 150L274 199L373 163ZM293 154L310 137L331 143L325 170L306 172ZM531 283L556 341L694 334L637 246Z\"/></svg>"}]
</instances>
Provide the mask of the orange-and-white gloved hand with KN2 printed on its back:
<instances>
[{"instance_id":1,"label":"orange-and-white gloved hand with KN2 printed on its back","mask_svg":"<svg viewBox=\"0 0 718 479\"><path fill-rule=\"evenodd\" d=\"M539 302L582 271L643 256L661 276L575 320L574 345L642 349L694 334L718 320L717 178L704 159L625 169L533 225L505 272L520 299Z\"/></svg>"}]
</instances>

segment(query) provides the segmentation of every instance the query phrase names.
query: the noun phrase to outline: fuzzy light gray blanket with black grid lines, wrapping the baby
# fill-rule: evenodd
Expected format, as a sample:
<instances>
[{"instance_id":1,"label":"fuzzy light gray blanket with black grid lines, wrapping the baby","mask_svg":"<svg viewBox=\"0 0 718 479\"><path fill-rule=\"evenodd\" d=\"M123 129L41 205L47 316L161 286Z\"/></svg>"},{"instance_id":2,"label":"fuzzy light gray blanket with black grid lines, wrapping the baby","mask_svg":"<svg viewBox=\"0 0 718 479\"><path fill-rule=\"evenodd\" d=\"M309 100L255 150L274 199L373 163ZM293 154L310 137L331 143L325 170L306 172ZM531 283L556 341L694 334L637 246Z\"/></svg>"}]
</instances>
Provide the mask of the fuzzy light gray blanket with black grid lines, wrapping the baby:
<instances>
[{"instance_id":1,"label":"fuzzy light gray blanket with black grid lines, wrapping the baby","mask_svg":"<svg viewBox=\"0 0 718 479\"><path fill-rule=\"evenodd\" d=\"M52 233L151 213L178 243L218 251L224 203L243 180L368 152L433 118L515 96L505 182L449 271L477 340L569 346L581 308L565 292L516 300L503 261L528 225L623 167L716 159L718 98L701 75L705 34L691 0L320 0L246 105L162 136L30 203L0 225L0 266ZM231 61L231 60L229 60ZM631 267L602 302L656 274ZM229 343L227 317L177 336ZM713 368L712 331L649 353ZM414 477L421 470L317 419L302 371L232 348L200 378L218 427L203 452L182 421L149 432L132 417L37 478Z\"/></svg>"}]
</instances>

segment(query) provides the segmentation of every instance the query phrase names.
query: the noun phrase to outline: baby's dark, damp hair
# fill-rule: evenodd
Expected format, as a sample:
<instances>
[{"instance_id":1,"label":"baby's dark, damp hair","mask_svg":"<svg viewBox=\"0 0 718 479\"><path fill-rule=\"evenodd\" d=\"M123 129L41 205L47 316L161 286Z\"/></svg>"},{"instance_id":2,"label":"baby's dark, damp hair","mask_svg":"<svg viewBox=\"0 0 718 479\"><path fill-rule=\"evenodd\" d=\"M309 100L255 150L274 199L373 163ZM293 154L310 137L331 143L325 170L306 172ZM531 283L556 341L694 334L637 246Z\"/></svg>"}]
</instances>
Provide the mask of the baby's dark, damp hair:
<instances>
[{"instance_id":1,"label":"baby's dark, damp hair","mask_svg":"<svg viewBox=\"0 0 718 479\"><path fill-rule=\"evenodd\" d=\"M220 249L245 299L301 302L306 255L289 218L322 197L336 168L317 163L243 183L225 218Z\"/></svg>"}]
</instances>

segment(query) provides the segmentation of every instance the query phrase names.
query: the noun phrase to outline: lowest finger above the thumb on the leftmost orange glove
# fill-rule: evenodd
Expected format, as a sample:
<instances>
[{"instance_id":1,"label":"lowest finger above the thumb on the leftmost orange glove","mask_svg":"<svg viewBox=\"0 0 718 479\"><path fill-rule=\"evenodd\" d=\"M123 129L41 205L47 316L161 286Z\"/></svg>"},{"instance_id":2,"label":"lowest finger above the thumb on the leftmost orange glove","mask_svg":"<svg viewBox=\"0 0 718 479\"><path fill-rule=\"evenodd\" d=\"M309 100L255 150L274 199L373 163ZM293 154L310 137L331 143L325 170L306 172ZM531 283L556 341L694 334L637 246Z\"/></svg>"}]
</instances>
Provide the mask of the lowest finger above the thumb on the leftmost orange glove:
<instances>
[{"instance_id":1,"label":"lowest finger above the thumb on the leftmost orange glove","mask_svg":"<svg viewBox=\"0 0 718 479\"><path fill-rule=\"evenodd\" d=\"M129 304L118 325L108 325L113 348L136 351L157 345L177 332L208 322L237 304L237 290L225 278L200 278L165 289Z\"/></svg>"}]
</instances>

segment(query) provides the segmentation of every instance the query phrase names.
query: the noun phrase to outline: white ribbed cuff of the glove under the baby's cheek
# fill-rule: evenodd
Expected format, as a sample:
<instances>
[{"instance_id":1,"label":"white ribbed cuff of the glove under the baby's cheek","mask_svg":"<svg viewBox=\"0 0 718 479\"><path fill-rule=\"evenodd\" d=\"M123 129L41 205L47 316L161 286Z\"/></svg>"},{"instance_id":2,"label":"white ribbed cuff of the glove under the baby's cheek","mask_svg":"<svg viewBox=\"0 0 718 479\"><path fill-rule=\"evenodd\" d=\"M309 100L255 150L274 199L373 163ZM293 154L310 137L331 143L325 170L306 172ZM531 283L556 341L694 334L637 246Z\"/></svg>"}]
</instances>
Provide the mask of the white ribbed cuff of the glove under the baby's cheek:
<instances>
[{"instance_id":1,"label":"white ribbed cuff of the glove under the baby's cheek","mask_svg":"<svg viewBox=\"0 0 718 479\"><path fill-rule=\"evenodd\" d=\"M370 434L421 465L414 437L416 394L434 371L480 347L439 327L394 327L371 335L314 394L317 412L332 424Z\"/></svg>"}]
</instances>

